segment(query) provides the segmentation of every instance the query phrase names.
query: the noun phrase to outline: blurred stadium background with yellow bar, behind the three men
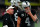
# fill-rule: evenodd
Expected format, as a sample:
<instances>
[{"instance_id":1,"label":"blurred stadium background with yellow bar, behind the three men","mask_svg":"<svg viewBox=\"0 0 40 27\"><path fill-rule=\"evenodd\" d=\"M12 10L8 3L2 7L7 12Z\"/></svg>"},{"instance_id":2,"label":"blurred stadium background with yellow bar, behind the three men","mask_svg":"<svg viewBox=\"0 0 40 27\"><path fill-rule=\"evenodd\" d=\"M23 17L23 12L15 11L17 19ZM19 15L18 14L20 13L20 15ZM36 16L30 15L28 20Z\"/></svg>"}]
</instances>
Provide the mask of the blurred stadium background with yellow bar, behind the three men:
<instances>
[{"instance_id":1,"label":"blurred stadium background with yellow bar, behind the three men","mask_svg":"<svg viewBox=\"0 0 40 27\"><path fill-rule=\"evenodd\" d=\"M0 0L0 27L2 27L2 15L4 15L5 9L11 5L11 0ZM21 0L21 1L29 1L31 3L31 9L36 11L39 22L35 23L35 27L40 27L40 0Z\"/></svg>"}]
</instances>

